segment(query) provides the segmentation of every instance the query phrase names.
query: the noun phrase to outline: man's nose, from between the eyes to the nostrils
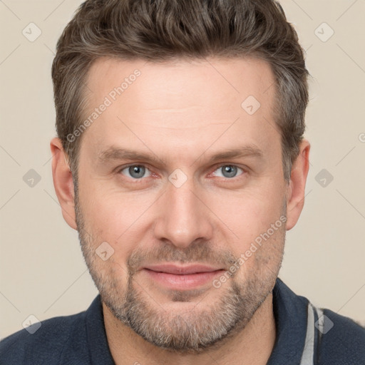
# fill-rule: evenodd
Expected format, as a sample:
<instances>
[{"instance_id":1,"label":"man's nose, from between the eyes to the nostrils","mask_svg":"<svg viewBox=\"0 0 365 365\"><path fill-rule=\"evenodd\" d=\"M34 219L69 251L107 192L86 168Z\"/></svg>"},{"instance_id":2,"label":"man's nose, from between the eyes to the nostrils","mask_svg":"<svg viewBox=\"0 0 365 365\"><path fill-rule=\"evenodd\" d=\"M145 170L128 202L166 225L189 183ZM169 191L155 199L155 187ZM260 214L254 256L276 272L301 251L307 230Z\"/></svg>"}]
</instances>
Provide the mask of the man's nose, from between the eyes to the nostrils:
<instances>
[{"instance_id":1,"label":"man's nose, from between the eyes to the nostrils","mask_svg":"<svg viewBox=\"0 0 365 365\"><path fill-rule=\"evenodd\" d=\"M180 249L196 240L212 240L212 213L205 205L201 190L187 180L183 186L168 183L158 200L154 234L157 240L170 242Z\"/></svg>"}]
</instances>

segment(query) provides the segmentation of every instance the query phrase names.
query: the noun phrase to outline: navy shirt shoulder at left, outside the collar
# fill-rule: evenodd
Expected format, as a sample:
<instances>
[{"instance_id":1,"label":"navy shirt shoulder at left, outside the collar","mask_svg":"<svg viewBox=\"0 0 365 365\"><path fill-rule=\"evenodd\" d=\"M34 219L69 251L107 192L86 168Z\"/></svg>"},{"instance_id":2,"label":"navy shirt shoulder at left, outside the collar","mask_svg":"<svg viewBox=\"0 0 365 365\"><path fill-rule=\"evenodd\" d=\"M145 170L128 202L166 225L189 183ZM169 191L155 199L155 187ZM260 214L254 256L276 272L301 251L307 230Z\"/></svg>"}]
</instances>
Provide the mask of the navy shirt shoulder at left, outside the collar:
<instances>
[{"instance_id":1,"label":"navy shirt shoulder at left, outside the collar","mask_svg":"<svg viewBox=\"0 0 365 365\"><path fill-rule=\"evenodd\" d=\"M11 334L0 341L0 364L60 364L63 351L86 349L85 315L46 319Z\"/></svg>"}]
</instances>

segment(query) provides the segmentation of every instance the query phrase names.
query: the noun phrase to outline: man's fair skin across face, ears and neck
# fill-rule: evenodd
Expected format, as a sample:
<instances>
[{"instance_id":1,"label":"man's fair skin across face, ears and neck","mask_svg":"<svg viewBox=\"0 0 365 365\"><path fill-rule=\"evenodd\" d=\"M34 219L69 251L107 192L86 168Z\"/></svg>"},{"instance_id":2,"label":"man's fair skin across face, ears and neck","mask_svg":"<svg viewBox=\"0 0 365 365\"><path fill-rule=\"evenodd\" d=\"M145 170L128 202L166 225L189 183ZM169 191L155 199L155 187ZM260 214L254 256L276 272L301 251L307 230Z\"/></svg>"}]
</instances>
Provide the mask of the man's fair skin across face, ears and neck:
<instances>
[{"instance_id":1,"label":"man's fair skin across face, ears and neck","mask_svg":"<svg viewBox=\"0 0 365 365\"><path fill-rule=\"evenodd\" d=\"M115 364L266 364L276 336L272 288L285 232L297 223L304 205L309 142L302 141L291 179L285 181L272 114L274 76L268 63L255 58L175 63L100 58L88 73L92 92L86 94L86 118L135 68L141 75L81 136L76 196L68 156L58 138L51 140L56 194L64 219L79 231L101 292ZM253 115L241 107L247 96L261 104ZM215 153L247 145L261 156L210 162ZM110 146L158 160L98 158ZM145 166L143 178L130 175L125 168L130 164ZM238 167L233 177L223 175L227 165ZM180 187L168 179L176 169L187 178ZM228 270L230 260L247 252L280 217L286 222L219 288L209 282L197 290L172 290L140 269L190 262ZM101 242L114 250L106 261L95 253ZM235 294L241 302L225 317ZM128 300L134 300L133 308ZM228 334L206 346L179 348L178 339L198 325L223 331L235 308L241 318ZM175 348L136 333L125 316L145 319L151 336L158 324L160 334L175 336Z\"/></svg>"}]
</instances>

